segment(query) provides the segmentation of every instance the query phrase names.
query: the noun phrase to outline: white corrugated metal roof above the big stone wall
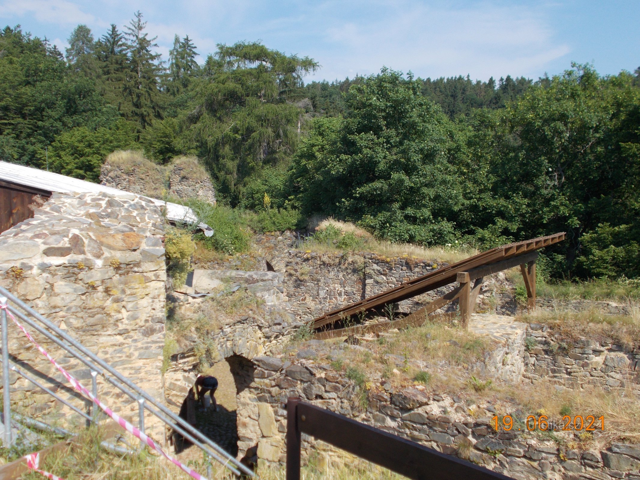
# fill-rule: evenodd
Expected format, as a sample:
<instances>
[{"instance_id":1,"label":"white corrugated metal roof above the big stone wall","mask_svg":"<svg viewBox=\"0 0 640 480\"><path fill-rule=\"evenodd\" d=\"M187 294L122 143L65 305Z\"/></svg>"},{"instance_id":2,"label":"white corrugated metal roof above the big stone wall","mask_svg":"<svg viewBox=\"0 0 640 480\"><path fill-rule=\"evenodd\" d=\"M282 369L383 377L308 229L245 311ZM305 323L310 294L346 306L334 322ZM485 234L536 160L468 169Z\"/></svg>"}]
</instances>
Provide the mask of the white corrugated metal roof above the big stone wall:
<instances>
[{"instance_id":1,"label":"white corrugated metal roof above the big stone wall","mask_svg":"<svg viewBox=\"0 0 640 480\"><path fill-rule=\"evenodd\" d=\"M60 173L45 172L30 166L17 165L0 161L0 180L12 182L14 184L38 188L45 191L60 193L111 193L111 195L131 195L130 192L118 190L97 183L87 182L86 180L74 179ZM166 218L172 221L181 221L185 223L194 223L198 219L195 213L189 207L184 205L172 204L157 200L157 198L149 198L154 204L163 207L166 204Z\"/></svg>"}]
</instances>

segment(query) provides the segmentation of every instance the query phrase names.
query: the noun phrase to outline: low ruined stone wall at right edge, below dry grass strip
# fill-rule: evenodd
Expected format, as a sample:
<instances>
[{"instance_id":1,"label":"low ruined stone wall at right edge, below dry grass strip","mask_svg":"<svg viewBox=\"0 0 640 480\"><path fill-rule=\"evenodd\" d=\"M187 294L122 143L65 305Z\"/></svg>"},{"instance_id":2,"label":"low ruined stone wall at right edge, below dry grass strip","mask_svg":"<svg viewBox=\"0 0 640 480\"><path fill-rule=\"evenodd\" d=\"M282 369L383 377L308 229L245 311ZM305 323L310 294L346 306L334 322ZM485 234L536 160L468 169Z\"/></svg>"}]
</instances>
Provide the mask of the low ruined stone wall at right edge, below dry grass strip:
<instances>
[{"instance_id":1,"label":"low ruined stone wall at right edge, below dry grass strip","mask_svg":"<svg viewBox=\"0 0 640 480\"><path fill-rule=\"evenodd\" d=\"M525 342L524 378L533 383L545 379L568 388L630 387L640 395L640 349L593 339L567 344L539 323L529 324Z\"/></svg>"}]
</instances>

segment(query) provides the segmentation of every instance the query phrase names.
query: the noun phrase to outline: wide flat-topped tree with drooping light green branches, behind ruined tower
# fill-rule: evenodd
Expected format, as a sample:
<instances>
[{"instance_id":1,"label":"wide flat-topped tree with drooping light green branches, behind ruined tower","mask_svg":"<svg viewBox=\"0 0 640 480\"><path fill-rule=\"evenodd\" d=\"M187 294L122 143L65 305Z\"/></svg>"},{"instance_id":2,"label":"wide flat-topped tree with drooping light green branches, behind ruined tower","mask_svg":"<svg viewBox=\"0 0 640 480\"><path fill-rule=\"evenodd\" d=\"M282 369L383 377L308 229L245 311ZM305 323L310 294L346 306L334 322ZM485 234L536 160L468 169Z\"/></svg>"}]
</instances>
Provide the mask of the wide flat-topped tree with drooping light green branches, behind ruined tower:
<instances>
[{"instance_id":1,"label":"wide flat-topped tree with drooping light green branches, behind ruined tower","mask_svg":"<svg viewBox=\"0 0 640 480\"><path fill-rule=\"evenodd\" d=\"M303 111L287 97L316 68L310 58L287 56L258 42L218 45L205 61L198 115L189 121L193 140L232 204L241 200L250 175L293 153Z\"/></svg>"}]
</instances>

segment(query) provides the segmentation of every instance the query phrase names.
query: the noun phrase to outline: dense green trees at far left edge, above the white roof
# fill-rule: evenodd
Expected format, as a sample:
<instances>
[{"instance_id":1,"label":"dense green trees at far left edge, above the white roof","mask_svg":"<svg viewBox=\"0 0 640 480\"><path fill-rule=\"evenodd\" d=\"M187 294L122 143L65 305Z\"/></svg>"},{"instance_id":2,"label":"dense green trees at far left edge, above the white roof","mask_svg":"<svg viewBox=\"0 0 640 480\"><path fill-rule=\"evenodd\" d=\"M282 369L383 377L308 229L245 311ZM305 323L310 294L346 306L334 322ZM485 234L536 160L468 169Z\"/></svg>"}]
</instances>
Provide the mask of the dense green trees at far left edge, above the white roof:
<instances>
[{"instance_id":1,"label":"dense green trees at far left edge, above the white roof","mask_svg":"<svg viewBox=\"0 0 640 480\"><path fill-rule=\"evenodd\" d=\"M69 75L47 42L6 27L0 51L0 160L44 168L56 136L79 126L95 131L116 118L95 81Z\"/></svg>"}]
</instances>

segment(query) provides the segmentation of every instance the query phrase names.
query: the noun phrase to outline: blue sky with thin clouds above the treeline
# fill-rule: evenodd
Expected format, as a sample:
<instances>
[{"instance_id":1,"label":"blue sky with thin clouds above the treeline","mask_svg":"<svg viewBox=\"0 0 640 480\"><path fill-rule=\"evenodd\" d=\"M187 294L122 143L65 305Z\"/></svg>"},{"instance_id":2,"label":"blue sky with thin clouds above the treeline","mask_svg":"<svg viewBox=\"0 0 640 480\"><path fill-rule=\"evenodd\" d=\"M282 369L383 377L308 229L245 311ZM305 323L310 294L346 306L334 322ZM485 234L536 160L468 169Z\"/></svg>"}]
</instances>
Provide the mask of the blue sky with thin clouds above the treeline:
<instances>
[{"instance_id":1,"label":"blue sky with thin clouds above the treeline","mask_svg":"<svg viewBox=\"0 0 640 480\"><path fill-rule=\"evenodd\" d=\"M640 67L639 0L0 0L0 22L20 24L61 51L77 24L95 36L140 10L157 52L189 35L200 63L216 44L260 40L309 56L305 78L333 80L388 67L415 76L487 80L559 74L571 62L601 74Z\"/></svg>"}]
</instances>

